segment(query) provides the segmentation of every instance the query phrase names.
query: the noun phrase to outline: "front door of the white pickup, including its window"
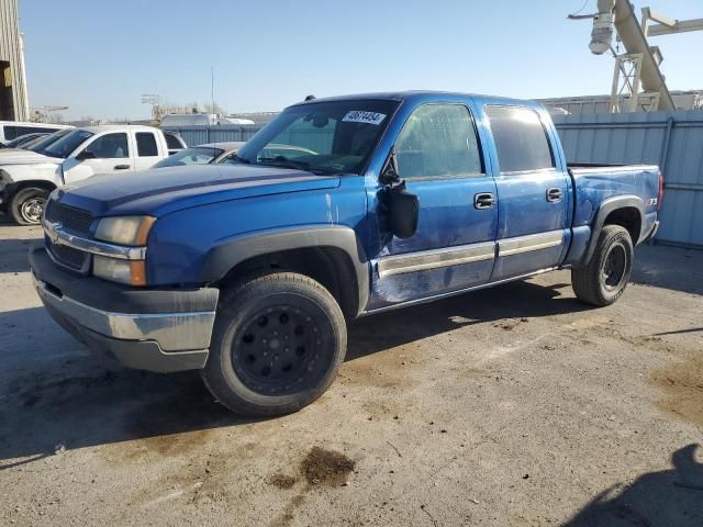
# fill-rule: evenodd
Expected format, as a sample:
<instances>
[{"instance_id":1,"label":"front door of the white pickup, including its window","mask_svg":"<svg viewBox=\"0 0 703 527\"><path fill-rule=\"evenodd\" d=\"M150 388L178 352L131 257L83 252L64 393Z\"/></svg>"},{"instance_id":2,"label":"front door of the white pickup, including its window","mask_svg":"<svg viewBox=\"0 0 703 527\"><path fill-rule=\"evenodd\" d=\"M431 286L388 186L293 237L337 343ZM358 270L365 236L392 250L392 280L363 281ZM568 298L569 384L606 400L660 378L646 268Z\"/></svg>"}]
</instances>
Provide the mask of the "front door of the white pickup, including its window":
<instances>
[{"instance_id":1,"label":"front door of the white pickup, including its window","mask_svg":"<svg viewBox=\"0 0 703 527\"><path fill-rule=\"evenodd\" d=\"M99 135L64 161L64 181L71 183L98 173L134 171L134 159L125 132Z\"/></svg>"}]
</instances>

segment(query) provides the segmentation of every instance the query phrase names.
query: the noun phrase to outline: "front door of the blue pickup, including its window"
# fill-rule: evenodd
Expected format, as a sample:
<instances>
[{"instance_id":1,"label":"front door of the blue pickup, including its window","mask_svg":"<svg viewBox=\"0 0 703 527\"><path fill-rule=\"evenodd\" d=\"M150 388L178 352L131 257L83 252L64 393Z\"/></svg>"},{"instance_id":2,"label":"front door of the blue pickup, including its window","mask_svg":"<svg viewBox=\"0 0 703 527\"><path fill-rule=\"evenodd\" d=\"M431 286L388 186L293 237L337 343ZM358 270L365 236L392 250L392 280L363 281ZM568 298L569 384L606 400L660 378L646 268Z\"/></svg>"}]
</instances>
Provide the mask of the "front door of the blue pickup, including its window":
<instances>
[{"instance_id":1,"label":"front door of the blue pickup, including its window","mask_svg":"<svg viewBox=\"0 0 703 527\"><path fill-rule=\"evenodd\" d=\"M372 261L369 306L448 293L488 281L495 255L495 183L465 104L429 103L395 141L398 171L420 198L417 231Z\"/></svg>"}]
</instances>

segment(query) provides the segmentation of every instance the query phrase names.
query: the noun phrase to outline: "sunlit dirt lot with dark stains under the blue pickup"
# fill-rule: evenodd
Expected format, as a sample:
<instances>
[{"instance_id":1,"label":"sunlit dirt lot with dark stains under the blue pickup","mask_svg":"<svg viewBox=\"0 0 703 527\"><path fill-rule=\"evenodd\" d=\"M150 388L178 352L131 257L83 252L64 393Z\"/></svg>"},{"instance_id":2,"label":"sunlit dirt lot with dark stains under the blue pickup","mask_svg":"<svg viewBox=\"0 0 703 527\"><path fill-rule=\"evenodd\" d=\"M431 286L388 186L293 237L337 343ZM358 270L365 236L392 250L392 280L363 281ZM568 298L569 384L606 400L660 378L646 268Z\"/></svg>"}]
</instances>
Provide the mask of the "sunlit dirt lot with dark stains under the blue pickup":
<instances>
[{"instance_id":1,"label":"sunlit dirt lot with dark stains under the blue pickup","mask_svg":"<svg viewBox=\"0 0 703 527\"><path fill-rule=\"evenodd\" d=\"M0 224L0 525L703 525L703 253L639 248L604 310L557 272L358 321L330 392L250 422L65 334L40 236Z\"/></svg>"}]
</instances>

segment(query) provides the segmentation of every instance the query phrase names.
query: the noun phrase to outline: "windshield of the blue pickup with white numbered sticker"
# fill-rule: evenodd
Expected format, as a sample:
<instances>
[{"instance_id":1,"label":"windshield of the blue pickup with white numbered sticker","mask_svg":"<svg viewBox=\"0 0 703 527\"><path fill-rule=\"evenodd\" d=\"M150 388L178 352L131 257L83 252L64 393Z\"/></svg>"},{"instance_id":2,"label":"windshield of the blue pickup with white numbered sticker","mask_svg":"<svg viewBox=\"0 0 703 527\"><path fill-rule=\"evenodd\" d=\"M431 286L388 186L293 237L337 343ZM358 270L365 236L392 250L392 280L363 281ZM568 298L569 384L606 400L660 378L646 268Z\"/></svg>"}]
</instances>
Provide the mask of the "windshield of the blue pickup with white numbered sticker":
<instances>
[{"instance_id":1,"label":"windshield of the blue pickup with white numbered sticker","mask_svg":"<svg viewBox=\"0 0 703 527\"><path fill-rule=\"evenodd\" d=\"M359 173L398 104L348 100L291 106L224 162Z\"/></svg>"}]
</instances>

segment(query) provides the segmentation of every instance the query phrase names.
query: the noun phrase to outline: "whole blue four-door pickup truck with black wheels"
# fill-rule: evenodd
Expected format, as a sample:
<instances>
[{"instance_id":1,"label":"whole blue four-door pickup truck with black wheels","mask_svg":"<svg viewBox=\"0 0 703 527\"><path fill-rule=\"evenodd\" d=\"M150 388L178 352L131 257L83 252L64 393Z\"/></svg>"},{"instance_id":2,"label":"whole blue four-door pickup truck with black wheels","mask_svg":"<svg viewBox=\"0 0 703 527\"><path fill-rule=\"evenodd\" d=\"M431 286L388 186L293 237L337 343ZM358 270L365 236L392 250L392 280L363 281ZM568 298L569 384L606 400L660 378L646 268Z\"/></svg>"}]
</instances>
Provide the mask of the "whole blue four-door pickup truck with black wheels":
<instances>
[{"instance_id":1,"label":"whole blue four-door pickup truck with black wheels","mask_svg":"<svg viewBox=\"0 0 703 527\"><path fill-rule=\"evenodd\" d=\"M225 164L55 190L30 260L51 315L89 348L200 370L232 411L276 415L330 386L355 317L555 269L611 304L661 194L655 166L567 166L534 102L316 99Z\"/></svg>"}]
</instances>

